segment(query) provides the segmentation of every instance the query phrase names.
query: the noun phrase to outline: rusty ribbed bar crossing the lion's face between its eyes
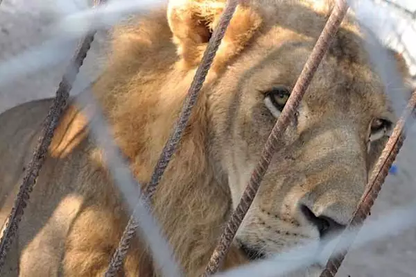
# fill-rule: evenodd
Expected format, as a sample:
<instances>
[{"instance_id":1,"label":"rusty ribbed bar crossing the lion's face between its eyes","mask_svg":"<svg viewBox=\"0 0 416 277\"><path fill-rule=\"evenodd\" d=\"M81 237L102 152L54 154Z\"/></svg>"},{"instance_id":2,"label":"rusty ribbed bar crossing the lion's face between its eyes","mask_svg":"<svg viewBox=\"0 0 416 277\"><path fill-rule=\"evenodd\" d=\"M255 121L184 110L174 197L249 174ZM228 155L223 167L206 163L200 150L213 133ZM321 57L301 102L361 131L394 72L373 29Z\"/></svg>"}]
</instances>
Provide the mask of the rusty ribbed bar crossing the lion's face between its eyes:
<instances>
[{"instance_id":1,"label":"rusty ribbed bar crossing the lion's face between its eyes","mask_svg":"<svg viewBox=\"0 0 416 277\"><path fill-rule=\"evenodd\" d=\"M335 35L336 31L338 31L347 10L348 6L344 0L338 1L336 6L333 8L327 24L325 24L315 47L313 47L311 55L302 69L302 73L296 81L288 102L282 110L281 115L279 115L279 119L277 119L277 122L268 137L266 145L261 153L260 161L250 176L250 181L248 181L248 185L245 187L245 191L243 196L241 196L239 205L232 213L232 216L223 231L223 235L220 237L220 242L218 242L216 249L214 249L214 252L211 255L209 263L205 269L205 274L202 274L202 276L215 274L221 266L225 255L227 255L227 251L234 240L236 231L239 228L241 221L243 221L245 214L248 212L248 209L254 200L254 196L257 194L257 190L259 190L261 180L264 174L266 174L272 155L275 152L275 145L295 115L297 106L299 106L309 83L311 83L313 74L315 74L316 69L318 69L320 61L329 48L331 38Z\"/></svg>"}]
</instances>

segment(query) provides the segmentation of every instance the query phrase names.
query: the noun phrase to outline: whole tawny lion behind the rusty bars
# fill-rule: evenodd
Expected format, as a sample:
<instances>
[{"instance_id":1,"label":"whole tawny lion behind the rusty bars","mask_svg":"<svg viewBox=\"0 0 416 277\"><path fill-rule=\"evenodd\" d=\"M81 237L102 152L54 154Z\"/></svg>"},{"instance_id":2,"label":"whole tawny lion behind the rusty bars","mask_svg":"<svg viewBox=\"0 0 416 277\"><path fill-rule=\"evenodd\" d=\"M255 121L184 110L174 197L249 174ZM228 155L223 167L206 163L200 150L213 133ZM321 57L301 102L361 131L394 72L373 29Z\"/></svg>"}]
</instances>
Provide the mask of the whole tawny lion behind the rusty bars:
<instances>
[{"instance_id":1,"label":"whole tawny lion behind the rusty bars","mask_svg":"<svg viewBox=\"0 0 416 277\"><path fill-rule=\"evenodd\" d=\"M225 4L171 0L114 28L92 94L141 184L150 180ZM244 0L236 8L152 200L184 276L204 272L332 7L333 1ZM346 17L220 271L345 228L397 121L364 39ZM389 53L405 81L406 62ZM3 221L52 101L23 103L0 116ZM64 110L1 276L105 273L130 210L90 135L89 108L75 98ZM297 276L315 276L323 265ZM138 235L120 276L159 274Z\"/></svg>"}]
</instances>

